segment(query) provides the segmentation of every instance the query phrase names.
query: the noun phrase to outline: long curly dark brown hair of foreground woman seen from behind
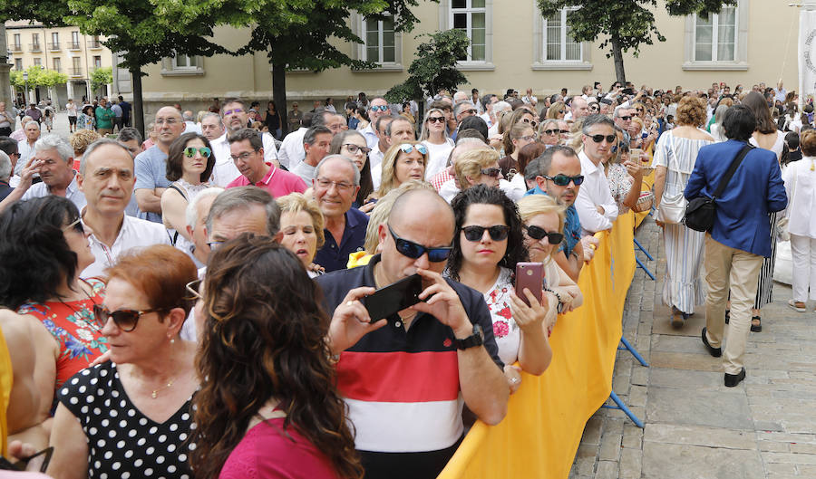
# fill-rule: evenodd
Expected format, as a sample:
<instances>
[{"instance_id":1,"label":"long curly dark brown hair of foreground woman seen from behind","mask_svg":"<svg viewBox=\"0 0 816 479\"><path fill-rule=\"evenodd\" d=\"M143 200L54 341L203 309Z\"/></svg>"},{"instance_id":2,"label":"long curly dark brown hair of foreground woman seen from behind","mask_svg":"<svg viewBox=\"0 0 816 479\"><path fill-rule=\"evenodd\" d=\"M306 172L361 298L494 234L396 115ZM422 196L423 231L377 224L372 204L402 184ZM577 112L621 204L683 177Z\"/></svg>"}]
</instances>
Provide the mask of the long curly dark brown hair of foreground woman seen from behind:
<instances>
[{"instance_id":1,"label":"long curly dark brown hair of foreground woman seen from behind","mask_svg":"<svg viewBox=\"0 0 816 479\"><path fill-rule=\"evenodd\" d=\"M274 288L269 278L276 278ZM329 318L295 254L267 236L238 236L210 257L203 301L198 427L190 439L196 476L218 477L252 418L273 399L286 413L280 434L296 429L339 477L362 477L325 341Z\"/></svg>"}]
</instances>

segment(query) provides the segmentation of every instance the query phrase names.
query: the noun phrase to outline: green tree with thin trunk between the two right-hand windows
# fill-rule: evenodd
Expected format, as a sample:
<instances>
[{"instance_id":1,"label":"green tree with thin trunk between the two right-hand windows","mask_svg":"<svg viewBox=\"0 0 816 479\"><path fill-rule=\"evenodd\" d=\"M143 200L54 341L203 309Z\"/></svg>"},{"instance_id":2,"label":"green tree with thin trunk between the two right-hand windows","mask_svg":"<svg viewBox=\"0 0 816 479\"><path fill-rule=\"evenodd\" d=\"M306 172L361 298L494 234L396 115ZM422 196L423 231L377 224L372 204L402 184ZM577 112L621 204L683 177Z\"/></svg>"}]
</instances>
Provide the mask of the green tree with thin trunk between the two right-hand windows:
<instances>
[{"instance_id":1,"label":"green tree with thin trunk between the two right-hand windows","mask_svg":"<svg viewBox=\"0 0 816 479\"><path fill-rule=\"evenodd\" d=\"M545 18L577 4L575 0L538 1ZM666 0L665 4L671 15L712 14L723 5L735 5L736 0ZM595 42L604 36L600 46L608 48L607 58L614 59L617 81L624 82L624 52L632 50L637 56L642 43L653 44L652 34L658 42L665 42L655 26L655 15L647 9L656 5L656 0L584 0L568 14L567 23L576 42Z\"/></svg>"}]
</instances>

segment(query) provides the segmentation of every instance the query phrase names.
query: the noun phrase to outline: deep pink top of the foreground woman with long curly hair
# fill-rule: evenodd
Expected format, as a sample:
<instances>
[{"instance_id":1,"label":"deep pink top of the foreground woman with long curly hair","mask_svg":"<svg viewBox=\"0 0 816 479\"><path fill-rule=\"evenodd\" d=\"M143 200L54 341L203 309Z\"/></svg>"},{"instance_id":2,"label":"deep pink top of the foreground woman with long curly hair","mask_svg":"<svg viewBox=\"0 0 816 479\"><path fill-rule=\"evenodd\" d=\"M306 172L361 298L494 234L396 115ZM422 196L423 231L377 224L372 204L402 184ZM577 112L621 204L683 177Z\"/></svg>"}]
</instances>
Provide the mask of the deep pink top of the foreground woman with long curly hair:
<instances>
[{"instance_id":1,"label":"deep pink top of the foreground woman with long curly hair","mask_svg":"<svg viewBox=\"0 0 816 479\"><path fill-rule=\"evenodd\" d=\"M267 419L247 431L229 453L219 479L337 479L334 467L293 426L283 433L283 417Z\"/></svg>"}]
</instances>

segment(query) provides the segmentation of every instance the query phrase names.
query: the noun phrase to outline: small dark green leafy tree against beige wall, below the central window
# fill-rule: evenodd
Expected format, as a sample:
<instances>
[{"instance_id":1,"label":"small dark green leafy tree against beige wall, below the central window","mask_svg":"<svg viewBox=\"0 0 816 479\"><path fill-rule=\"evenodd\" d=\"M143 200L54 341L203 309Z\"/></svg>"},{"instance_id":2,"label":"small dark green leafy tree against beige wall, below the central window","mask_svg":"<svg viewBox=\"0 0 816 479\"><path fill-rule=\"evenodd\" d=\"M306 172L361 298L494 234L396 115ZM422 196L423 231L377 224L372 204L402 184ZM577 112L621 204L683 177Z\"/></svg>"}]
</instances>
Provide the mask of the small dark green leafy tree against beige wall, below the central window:
<instances>
[{"instance_id":1,"label":"small dark green leafy tree against beige wall, below the central window","mask_svg":"<svg viewBox=\"0 0 816 479\"><path fill-rule=\"evenodd\" d=\"M408 67L408 79L393 86L385 100L398 103L433 96L445 89L456 91L467 78L456 68L457 58L465 56L471 41L459 29L425 34L431 41L417 48L416 58Z\"/></svg>"}]
</instances>

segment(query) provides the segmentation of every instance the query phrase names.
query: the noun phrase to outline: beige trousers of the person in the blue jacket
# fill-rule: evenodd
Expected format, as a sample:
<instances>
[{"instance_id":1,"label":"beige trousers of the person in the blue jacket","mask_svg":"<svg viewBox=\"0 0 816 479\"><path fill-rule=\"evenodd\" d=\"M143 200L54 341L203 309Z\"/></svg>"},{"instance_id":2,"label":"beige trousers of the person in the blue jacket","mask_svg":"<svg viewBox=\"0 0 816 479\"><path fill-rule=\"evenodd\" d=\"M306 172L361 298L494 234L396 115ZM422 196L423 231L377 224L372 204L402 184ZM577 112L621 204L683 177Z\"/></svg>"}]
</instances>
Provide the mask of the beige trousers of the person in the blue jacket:
<instances>
[{"instance_id":1,"label":"beige trousers of the person in the blue jacket","mask_svg":"<svg viewBox=\"0 0 816 479\"><path fill-rule=\"evenodd\" d=\"M751 308L756 285L763 268L763 257L726 246L705 234L705 328L708 342L722 347L725 329L725 303L731 290L731 321L723 349L723 368L728 374L743 369L743 354L751 330Z\"/></svg>"}]
</instances>

